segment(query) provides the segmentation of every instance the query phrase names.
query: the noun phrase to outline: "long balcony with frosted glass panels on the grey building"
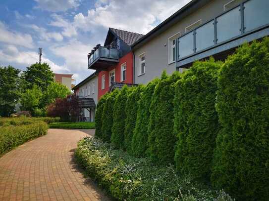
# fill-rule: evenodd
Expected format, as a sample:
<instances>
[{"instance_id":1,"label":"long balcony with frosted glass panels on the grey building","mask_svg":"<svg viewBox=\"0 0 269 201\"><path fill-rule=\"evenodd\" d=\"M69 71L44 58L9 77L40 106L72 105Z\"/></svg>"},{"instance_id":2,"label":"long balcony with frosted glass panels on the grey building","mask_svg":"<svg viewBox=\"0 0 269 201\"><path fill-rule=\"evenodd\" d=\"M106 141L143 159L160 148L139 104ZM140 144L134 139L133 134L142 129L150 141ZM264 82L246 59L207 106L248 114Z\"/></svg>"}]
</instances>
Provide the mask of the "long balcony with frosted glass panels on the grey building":
<instances>
[{"instance_id":1,"label":"long balcony with frosted glass panels on the grey building","mask_svg":"<svg viewBox=\"0 0 269 201\"><path fill-rule=\"evenodd\" d=\"M269 0L246 0L177 39L177 67L269 35Z\"/></svg>"}]
</instances>

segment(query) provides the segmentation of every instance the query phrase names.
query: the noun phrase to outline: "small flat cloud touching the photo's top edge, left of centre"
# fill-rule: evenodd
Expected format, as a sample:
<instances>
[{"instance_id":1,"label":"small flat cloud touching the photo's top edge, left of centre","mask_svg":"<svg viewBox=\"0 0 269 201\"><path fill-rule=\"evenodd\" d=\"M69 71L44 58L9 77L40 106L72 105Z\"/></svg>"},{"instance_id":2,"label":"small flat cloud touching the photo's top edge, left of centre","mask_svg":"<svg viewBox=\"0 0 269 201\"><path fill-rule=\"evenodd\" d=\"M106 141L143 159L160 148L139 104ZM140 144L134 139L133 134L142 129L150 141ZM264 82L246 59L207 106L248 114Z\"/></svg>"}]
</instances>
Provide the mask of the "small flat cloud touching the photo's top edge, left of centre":
<instances>
[{"instance_id":1,"label":"small flat cloud touching the photo's top edge, left of centre","mask_svg":"<svg viewBox=\"0 0 269 201\"><path fill-rule=\"evenodd\" d=\"M66 11L70 8L76 8L80 4L80 0L35 0L38 5L36 8L42 10L59 12Z\"/></svg>"}]
</instances>

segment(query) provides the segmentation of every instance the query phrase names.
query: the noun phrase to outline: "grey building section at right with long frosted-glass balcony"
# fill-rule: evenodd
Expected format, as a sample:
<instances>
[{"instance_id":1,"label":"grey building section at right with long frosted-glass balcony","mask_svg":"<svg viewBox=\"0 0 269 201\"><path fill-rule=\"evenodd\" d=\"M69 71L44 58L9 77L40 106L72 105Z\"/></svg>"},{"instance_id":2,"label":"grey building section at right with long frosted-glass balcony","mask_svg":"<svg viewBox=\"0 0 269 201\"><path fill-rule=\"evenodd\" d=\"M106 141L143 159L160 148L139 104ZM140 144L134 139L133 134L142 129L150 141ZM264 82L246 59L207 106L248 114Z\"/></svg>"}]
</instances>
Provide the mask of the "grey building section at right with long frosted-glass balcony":
<instances>
[{"instance_id":1,"label":"grey building section at right with long frosted-glass balcony","mask_svg":"<svg viewBox=\"0 0 269 201\"><path fill-rule=\"evenodd\" d=\"M134 83L224 60L244 42L269 35L269 0L192 0L132 45Z\"/></svg>"}]
</instances>

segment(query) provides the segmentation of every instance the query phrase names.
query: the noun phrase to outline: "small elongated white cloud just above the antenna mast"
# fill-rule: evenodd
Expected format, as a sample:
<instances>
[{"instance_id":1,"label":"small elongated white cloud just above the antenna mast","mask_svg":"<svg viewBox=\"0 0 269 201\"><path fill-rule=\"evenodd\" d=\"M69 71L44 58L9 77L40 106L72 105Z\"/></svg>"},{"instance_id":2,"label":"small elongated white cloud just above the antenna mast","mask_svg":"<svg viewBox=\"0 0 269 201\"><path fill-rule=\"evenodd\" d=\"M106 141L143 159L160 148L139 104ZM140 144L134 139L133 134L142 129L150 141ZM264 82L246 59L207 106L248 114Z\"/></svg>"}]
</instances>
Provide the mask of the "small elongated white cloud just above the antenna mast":
<instances>
[{"instance_id":1,"label":"small elongated white cloud just above the antenna mast","mask_svg":"<svg viewBox=\"0 0 269 201\"><path fill-rule=\"evenodd\" d=\"M34 30L36 33L39 34L39 37L42 40L46 40L46 41L51 41L52 39L56 40L56 41L63 40L62 35L60 33L58 33L58 32L48 32L47 29L45 29L43 27L38 27L35 24L23 25L23 26L31 28L32 30Z\"/></svg>"}]
</instances>

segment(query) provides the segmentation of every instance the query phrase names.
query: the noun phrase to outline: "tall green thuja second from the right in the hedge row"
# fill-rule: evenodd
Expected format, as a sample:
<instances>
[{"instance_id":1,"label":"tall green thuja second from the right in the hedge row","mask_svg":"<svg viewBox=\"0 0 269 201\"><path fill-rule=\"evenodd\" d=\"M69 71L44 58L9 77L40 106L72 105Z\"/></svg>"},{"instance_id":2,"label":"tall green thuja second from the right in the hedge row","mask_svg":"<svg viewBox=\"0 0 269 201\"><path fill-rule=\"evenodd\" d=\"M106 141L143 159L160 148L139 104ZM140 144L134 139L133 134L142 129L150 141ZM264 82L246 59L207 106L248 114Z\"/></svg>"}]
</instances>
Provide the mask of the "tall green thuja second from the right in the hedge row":
<instances>
[{"instance_id":1,"label":"tall green thuja second from the right in the hedge row","mask_svg":"<svg viewBox=\"0 0 269 201\"><path fill-rule=\"evenodd\" d=\"M205 181L210 180L219 130L215 97L220 67L213 58L195 62L175 84L176 168Z\"/></svg>"}]
</instances>

